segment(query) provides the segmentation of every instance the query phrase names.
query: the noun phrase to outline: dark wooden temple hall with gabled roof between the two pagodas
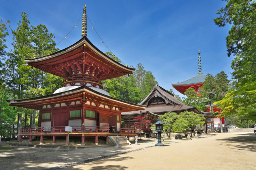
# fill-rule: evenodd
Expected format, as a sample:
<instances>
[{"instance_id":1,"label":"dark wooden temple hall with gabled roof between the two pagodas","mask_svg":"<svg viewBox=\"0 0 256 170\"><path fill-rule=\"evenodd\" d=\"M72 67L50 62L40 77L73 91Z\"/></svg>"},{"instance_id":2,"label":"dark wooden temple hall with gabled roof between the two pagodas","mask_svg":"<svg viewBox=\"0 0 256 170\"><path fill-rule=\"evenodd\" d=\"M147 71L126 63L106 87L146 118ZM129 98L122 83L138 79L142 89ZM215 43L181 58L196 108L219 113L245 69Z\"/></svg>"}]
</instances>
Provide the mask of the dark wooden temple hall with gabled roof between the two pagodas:
<instances>
[{"instance_id":1,"label":"dark wooden temple hall with gabled roof between the two pagodas","mask_svg":"<svg viewBox=\"0 0 256 170\"><path fill-rule=\"evenodd\" d=\"M196 114L202 115L202 117L205 117L205 121L207 118L214 117L212 113L200 111L196 107L185 105L176 99L172 93L166 91L157 84L154 85L154 88L150 94L140 103L140 105L146 105L144 111L129 111L122 113L124 128L130 128L132 125L134 125L134 117L148 115L148 119L150 119L152 123L155 123L157 122L159 115L164 115L168 112L194 112ZM207 132L206 124L204 125L204 132ZM144 133L145 136L147 133L148 132Z\"/></svg>"}]
</instances>

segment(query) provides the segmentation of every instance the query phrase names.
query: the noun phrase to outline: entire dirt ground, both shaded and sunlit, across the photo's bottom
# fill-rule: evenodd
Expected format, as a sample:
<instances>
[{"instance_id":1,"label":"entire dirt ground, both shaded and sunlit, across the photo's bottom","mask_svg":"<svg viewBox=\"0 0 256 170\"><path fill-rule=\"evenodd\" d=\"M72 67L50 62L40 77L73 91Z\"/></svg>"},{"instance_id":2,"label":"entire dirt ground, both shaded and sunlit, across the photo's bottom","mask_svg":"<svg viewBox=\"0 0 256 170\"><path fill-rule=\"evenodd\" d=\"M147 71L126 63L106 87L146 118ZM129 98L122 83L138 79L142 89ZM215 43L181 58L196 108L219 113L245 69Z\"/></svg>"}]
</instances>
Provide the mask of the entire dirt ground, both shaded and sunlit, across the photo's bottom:
<instances>
[{"instance_id":1,"label":"entire dirt ground, both shaded and sunlit, across the photo's bottom","mask_svg":"<svg viewBox=\"0 0 256 170\"><path fill-rule=\"evenodd\" d=\"M52 148L7 148L0 150L0 169L256 169L256 135L252 132L218 133L216 136L192 140L173 139L172 142L165 143L166 146L151 147L154 144L156 140L122 148L108 146L69 151ZM134 150L137 151L130 152ZM119 155L114 156L115 154ZM99 157L100 160L93 161Z\"/></svg>"}]
</instances>

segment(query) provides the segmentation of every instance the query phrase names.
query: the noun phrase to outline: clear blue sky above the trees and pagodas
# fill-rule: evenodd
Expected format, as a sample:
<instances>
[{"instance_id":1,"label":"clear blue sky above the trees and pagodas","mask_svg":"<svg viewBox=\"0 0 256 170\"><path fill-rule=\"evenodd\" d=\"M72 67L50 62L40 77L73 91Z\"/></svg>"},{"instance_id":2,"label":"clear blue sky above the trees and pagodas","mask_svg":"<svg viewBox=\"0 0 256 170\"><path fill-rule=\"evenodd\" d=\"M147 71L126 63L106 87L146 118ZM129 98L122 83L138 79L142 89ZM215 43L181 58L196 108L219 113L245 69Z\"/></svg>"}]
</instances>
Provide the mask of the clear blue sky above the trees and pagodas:
<instances>
[{"instance_id":1,"label":"clear blue sky above the trees and pagodas","mask_svg":"<svg viewBox=\"0 0 256 170\"><path fill-rule=\"evenodd\" d=\"M10 20L16 29L21 12L28 14L30 24L44 24L59 43L83 12L108 48L125 64L142 63L166 90L198 73L198 50L201 51L202 73L216 75L224 71L231 79L234 56L228 57L226 40L231 26L218 28L213 19L225 6L220 0L0 0L0 18ZM103 52L109 51L92 29L87 18L87 38ZM57 47L64 49L81 38L82 18L67 39ZM12 35L7 37L6 51L12 48ZM174 89L174 93L181 95Z\"/></svg>"}]
</instances>

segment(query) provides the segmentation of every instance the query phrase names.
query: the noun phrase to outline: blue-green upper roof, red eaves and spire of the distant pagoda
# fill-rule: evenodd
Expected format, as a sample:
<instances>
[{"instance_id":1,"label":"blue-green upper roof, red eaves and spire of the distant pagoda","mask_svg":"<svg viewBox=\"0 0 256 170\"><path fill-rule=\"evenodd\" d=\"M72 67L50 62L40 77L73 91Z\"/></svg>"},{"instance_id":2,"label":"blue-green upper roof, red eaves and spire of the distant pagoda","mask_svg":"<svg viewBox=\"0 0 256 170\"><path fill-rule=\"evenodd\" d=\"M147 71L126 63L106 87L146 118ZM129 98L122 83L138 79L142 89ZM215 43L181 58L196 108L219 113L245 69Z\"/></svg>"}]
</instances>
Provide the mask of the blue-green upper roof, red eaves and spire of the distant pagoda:
<instances>
[{"instance_id":1,"label":"blue-green upper roof, red eaves and spire of the distant pagoda","mask_svg":"<svg viewBox=\"0 0 256 170\"><path fill-rule=\"evenodd\" d=\"M206 75L204 75L201 71L202 71L202 66L201 66L201 56L200 56L201 51L198 51L198 71L199 73L190 78L187 79L185 81L182 82L178 82L176 84L172 84L172 87L174 87L174 89L176 89L178 92L180 92L181 94L184 95L184 92L189 88L192 87L193 89L195 89L196 92L199 92L199 87L202 87L204 84L204 79L206 77Z\"/></svg>"}]
</instances>

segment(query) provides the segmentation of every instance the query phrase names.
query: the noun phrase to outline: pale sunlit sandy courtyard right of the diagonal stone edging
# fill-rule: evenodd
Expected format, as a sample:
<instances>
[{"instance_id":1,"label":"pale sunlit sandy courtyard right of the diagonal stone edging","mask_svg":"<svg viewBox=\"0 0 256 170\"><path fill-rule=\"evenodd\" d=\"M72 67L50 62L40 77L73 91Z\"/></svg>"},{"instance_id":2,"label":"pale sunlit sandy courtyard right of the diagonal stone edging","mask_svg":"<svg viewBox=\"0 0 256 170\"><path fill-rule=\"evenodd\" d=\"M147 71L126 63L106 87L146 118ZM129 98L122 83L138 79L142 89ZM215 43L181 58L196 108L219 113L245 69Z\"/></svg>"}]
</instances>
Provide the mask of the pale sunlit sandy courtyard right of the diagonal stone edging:
<instances>
[{"instance_id":1,"label":"pale sunlit sandy courtyard right of the diagonal stone edging","mask_svg":"<svg viewBox=\"0 0 256 170\"><path fill-rule=\"evenodd\" d=\"M218 133L208 138L152 147L65 170L256 169L256 135Z\"/></svg>"}]
</instances>

